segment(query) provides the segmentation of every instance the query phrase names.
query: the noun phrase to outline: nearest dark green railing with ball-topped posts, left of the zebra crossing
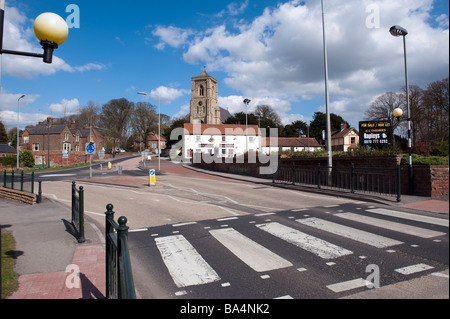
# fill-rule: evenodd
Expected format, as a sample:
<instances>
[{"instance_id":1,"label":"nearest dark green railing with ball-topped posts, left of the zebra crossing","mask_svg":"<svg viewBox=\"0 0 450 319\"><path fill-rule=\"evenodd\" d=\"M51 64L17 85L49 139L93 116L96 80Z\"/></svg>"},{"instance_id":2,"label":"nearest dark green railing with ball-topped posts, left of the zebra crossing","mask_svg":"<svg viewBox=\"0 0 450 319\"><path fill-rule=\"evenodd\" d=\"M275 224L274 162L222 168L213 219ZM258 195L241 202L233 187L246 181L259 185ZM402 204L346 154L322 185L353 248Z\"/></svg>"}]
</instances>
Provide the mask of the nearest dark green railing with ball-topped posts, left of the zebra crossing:
<instances>
[{"instance_id":1,"label":"nearest dark green railing with ball-topped posts, left of the zebra crossing","mask_svg":"<svg viewBox=\"0 0 450 319\"><path fill-rule=\"evenodd\" d=\"M114 221L113 205L106 206L106 298L136 299L126 217Z\"/></svg>"}]
</instances>

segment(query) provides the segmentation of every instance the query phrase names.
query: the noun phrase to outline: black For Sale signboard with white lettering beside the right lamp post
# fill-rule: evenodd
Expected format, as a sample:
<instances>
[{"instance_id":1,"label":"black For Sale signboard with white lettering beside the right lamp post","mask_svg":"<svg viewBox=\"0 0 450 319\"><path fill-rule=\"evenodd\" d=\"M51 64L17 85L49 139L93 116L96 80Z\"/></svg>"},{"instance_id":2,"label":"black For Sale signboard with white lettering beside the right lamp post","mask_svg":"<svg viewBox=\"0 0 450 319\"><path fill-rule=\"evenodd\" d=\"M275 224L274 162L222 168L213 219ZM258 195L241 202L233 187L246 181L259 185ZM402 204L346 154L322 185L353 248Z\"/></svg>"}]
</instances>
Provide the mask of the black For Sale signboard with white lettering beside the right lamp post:
<instances>
[{"instance_id":1,"label":"black For Sale signboard with white lettering beside the right lamp post","mask_svg":"<svg viewBox=\"0 0 450 319\"><path fill-rule=\"evenodd\" d=\"M359 122L359 144L380 147L392 144L392 124L389 121Z\"/></svg>"}]
</instances>

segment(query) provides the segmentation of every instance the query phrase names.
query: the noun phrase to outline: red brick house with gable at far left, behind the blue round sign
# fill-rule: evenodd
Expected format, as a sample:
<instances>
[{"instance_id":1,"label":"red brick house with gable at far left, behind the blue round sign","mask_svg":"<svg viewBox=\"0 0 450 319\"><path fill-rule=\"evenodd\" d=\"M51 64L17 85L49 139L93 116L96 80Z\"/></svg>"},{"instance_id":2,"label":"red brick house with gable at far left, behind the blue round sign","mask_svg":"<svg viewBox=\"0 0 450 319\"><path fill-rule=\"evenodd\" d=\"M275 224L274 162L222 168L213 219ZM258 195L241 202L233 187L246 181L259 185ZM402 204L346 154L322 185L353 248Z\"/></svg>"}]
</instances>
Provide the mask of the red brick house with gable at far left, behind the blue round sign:
<instances>
[{"instance_id":1,"label":"red brick house with gable at far left, behind the blue round sign","mask_svg":"<svg viewBox=\"0 0 450 319\"><path fill-rule=\"evenodd\" d=\"M95 128L77 129L75 121L71 125L53 124L53 118L47 122L27 127L20 136L20 150L30 150L36 164L47 164L48 158L54 165L76 164L89 160L85 154L86 143L94 142L97 150L104 146L103 136ZM69 158L63 159L63 150L69 152ZM95 154L94 159L98 158Z\"/></svg>"}]
</instances>

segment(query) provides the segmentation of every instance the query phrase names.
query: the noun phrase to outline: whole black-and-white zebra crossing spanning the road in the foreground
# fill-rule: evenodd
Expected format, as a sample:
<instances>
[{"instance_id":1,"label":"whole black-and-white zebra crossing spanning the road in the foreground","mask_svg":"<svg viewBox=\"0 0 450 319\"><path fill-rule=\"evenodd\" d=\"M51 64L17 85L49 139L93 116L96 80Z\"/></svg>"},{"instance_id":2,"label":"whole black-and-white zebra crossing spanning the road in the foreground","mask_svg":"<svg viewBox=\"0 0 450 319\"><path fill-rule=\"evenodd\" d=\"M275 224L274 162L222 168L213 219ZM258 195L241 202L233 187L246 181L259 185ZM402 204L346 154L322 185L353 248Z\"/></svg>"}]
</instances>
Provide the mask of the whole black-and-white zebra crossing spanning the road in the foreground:
<instances>
[{"instance_id":1,"label":"whole black-and-white zebra crossing spanning the road in the foreground","mask_svg":"<svg viewBox=\"0 0 450 319\"><path fill-rule=\"evenodd\" d=\"M373 286L368 265L381 267L384 285L448 265L448 220L356 206L185 222L129 236L131 245L145 243L142 258L175 298L303 298L310 291L333 298Z\"/></svg>"}]
</instances>

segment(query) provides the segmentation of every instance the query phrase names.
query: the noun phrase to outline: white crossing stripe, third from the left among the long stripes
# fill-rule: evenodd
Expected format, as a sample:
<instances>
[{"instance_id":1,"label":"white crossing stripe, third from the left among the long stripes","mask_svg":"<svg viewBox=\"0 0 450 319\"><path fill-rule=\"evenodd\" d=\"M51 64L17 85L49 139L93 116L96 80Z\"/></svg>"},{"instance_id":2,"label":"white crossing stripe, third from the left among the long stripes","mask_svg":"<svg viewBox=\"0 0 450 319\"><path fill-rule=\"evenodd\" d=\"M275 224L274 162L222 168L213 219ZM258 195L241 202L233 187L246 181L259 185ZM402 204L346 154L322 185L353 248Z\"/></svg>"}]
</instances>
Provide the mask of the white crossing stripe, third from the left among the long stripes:
<instances>
[{"instance_id":1,"label":"white crossing stripe, third from the left among the long stripes","mask_svg":"<svg viewBox=\"0 0 450 319\"><path fill-rule=\"evenodd\" d=\"M325 240L302 233L279 223L261 224L256 225L256 227L324 259L353 254L350 250L333 245Z\"/></svg>"}]
</instances>

